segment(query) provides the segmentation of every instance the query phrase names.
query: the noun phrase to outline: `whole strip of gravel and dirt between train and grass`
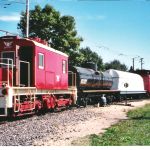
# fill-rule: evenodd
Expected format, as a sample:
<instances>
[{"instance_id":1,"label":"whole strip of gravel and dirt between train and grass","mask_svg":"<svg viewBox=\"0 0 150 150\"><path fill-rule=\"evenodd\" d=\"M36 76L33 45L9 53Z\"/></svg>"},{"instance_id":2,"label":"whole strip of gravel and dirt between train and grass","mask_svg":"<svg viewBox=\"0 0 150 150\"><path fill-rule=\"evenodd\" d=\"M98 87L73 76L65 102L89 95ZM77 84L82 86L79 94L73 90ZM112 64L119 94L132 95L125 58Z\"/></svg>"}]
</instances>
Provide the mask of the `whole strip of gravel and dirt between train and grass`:
<instances>
[{"instance_id":1,"label":"whole strip of gravel and dirt between train and grass","mask_svg":"<svg viewBox=\"0 0 150 150\"><path fill-rule=\"evenodd\" d=\"M88 106L42 116L22 118L0 125L0 146L66 146L79 137L99 134L105 128L126 119L129 109L141 107L150 100L131 102L131 106Z\"/></svg>"}]
</instances>

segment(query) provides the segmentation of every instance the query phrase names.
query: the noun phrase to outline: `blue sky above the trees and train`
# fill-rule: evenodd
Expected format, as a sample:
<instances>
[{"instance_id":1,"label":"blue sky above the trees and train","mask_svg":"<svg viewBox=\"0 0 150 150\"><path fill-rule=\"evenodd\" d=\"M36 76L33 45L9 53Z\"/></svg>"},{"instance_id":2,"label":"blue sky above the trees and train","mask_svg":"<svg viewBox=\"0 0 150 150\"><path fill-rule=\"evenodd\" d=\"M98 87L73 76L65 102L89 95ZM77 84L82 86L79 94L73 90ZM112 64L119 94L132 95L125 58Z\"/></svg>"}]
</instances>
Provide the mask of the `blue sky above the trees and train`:
<instances>
[{"instance_id":1,"label":"blue sky above the trees and train","mask_svg":"<svg viewBox=\"0 0 150 150\"><path fill-rule=\"evenodd\" d=\"M90 47L110 62L150 70L150 0L29 0L30 9L52 5L61 15L75 18L81 47ZM11 5L9 5L11 3ZM19 33L17 23L26 0L0 0L0 30ZM4 33L0 32L0 36Z\"/></svg>"}]
</instances>

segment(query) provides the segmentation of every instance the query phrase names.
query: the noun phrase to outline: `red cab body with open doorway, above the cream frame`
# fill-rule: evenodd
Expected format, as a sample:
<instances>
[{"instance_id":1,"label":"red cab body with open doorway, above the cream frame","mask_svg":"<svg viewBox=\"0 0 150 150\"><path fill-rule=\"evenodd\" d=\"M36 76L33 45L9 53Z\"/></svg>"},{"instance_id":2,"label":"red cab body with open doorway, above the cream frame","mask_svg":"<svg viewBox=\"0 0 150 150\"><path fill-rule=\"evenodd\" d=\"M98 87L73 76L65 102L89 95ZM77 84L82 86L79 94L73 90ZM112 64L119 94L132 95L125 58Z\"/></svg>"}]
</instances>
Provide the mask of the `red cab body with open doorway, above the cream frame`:
<instances>
[{"instance_id":1,"label":"red cab body with open doorway, above the cream frame","mask_svg":"<svg viewBox=\"0 0 150 150\"><path fill-rule=\"evenodd\" d=\"M38 89L68 88L66 54L34 40L18 37L2 37L0 42L1 58L12 59L17 70L15 86L30 86Z\"/></svg>"}]
</instances>

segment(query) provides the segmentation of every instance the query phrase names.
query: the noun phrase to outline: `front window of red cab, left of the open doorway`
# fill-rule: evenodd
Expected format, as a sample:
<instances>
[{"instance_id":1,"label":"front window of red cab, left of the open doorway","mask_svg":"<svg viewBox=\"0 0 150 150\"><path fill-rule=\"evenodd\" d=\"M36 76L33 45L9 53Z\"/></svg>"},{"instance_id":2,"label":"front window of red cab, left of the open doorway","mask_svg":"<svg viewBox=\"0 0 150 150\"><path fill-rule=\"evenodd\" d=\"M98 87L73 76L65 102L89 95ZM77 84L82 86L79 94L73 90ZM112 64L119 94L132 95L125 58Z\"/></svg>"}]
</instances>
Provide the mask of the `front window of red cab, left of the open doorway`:
<instances>
[{"instance_id":1,"label":"front window of red cab, left of the open doorway","mask_svg":"<svg viewBox=\"0 0 150 150\"><path fill-rule=\"evenodd\" d=\"M1 53L2 63L5 64L12 64L12 61L14 63L14 57L15 53L13 51L7 51Z\"/></svg>"}]
</instances>

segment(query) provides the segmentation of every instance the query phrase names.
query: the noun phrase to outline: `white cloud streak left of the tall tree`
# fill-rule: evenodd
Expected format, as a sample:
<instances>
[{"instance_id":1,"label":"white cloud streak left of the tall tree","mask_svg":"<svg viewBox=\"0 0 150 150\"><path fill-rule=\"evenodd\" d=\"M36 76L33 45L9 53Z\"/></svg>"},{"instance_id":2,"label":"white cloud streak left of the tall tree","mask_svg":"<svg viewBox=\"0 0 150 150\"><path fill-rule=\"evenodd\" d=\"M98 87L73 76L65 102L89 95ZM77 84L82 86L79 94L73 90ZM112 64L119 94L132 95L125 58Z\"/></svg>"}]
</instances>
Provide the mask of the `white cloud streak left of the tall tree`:
<instances>
[{"instance_id":1,"label":"white cloud streak left of the tall tree","mask_svg":"<svg viewBox=\"0 0 150 150\"><path fill-rule=\"evenodd\" d=\"M11 14L9 16L0 16L0 21L19 21L20 20L20 15L18 14Z\"/></svg>"}]
</instances>

